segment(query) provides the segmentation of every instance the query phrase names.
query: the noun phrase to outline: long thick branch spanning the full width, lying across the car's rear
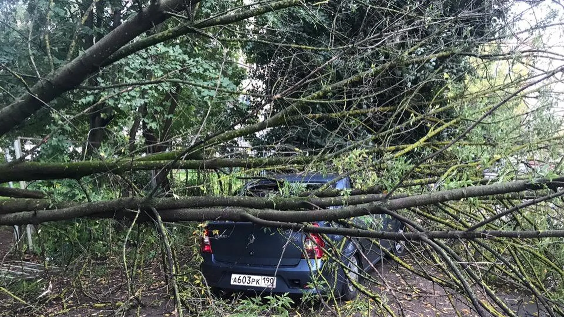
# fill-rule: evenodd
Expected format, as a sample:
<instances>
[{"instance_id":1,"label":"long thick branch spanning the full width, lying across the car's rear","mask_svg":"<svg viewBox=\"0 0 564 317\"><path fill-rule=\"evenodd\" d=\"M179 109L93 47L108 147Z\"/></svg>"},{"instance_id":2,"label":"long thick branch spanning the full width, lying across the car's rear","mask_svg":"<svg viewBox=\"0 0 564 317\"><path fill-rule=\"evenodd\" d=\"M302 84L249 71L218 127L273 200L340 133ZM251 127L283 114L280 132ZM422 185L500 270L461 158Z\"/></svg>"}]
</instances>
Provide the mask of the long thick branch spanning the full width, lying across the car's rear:
<instances>
[{"instance_id":1,"label":"long thick branch spanning the full width, lying across the car's rear","mask_svg":"<svg viewBox=\"0 0 564 317\"><path fill-rule=\"evenodd\" d=\"M562 180L564 180L564 178L552 180L539 179L536 180L535 183L531 183L528 180L517 180L507 183L456 188L453 190L402 197L388 201L373 201L359 205L343 206L336 209L310 209L299 211L283 209L319 208L318 206L320 205L329 206L332 204L343 204L343 201L346 203L347 200L341 197L280 199L277 201L258 197L186 197L184 199L151 200L139 200L134 198L118 199L112 201L90 202L83 205L56 210L37 210L33 212L3 214L0 215L0 225L58 221L76 217L89 217L100 213L105 213L107 216L108 213L120 213L124 208L134 210L148 210L150 208L156 208L160 210L163 219L166 219L166 221L244 221L245 214L250 214L254 217L259 217L265 220L280 222L331 221L368 214L386 214L389 213L390 210L432 205L438 204L439 202L461 200L469 197L499 195L531 189L539 190L550 181L560 182ZM363 199L363 195L354 197L354 199ZM351 199L351 197L349 197L349 199ZM314 204L314 202L316 204ZM2 209L0 209L0 213L1 210Z\"/></svg>"}]
</instances>

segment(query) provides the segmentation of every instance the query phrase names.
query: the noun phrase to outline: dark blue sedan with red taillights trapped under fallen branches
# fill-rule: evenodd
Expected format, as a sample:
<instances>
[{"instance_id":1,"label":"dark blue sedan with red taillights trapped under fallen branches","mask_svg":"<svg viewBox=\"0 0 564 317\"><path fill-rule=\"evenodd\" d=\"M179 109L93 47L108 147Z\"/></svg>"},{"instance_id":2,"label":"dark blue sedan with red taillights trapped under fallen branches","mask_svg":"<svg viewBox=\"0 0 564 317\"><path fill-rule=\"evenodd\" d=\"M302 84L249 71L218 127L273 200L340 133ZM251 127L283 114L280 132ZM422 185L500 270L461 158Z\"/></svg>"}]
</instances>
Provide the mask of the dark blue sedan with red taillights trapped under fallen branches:
<instances>
[{"instance_id":1,"label":"dark blue sedan with red taillights trapped under fallen branches","mask_svg":"<svg viewBox=\"0 0 564 317\"><path fill-rule=\"evenodd\" d=\"M338 175L275 175L246 184L241 195L293 195L315 190L335 178ZM332 188L351 188L350 179L341 178ZM402 223L382 215L351 221L373 230L403 230ZM343 224L320 221L314 225ZM333 292L342 300L351 300L358 295L354 286L359 282L358 272L369 271L381 261L382 248L398 255L404 252L402 243L380 240L379 244L363 238L264 228L250 222L209 222L202 238L201 270L208 285L220 292Z\"/></svg>"}]
</instances>

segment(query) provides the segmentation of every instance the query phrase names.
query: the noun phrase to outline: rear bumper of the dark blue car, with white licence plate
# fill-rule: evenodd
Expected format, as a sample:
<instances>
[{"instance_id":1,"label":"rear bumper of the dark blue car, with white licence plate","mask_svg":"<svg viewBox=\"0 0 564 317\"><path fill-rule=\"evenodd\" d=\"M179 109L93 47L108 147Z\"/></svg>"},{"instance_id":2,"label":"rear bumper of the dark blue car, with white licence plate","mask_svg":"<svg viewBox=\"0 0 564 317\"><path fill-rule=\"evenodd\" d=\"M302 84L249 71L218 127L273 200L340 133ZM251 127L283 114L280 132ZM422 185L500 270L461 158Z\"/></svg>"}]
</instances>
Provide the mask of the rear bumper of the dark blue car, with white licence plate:
<instances>
[{"instance_id":1,"label":"rear bumper of the dark blue car, with white licence plate","mask_svg":"<svg viewBox=\"0 0 564 317\"><path fill-rule=\"evenodd\" d=\"M216 261L213 254L202 254L204 262L201 265L202 274L211 287L225 290L236 290L256 294L265 293L323 293L323 287L310 288L306 285L314 284L312 276L319 276L318 280L327 278L320 274L324 261L317 259L301 259L296 266L258 266L242 265ZM258 288L243 285L231 285L231 274L249 274L262 276L276 276L275 288ZM321 283L324 284L324 283Z\"/></svg>"}]
</instances>

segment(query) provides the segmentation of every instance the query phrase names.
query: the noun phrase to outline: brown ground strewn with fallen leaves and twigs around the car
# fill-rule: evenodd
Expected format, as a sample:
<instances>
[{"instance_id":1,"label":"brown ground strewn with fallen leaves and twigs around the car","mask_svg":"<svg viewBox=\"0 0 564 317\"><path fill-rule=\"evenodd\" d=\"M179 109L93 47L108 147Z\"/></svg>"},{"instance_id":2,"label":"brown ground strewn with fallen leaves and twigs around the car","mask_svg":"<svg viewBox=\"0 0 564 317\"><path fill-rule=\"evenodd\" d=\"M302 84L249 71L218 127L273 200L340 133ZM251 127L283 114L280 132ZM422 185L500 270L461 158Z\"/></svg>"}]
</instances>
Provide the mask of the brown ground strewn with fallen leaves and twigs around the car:
<instances>
[{"instance_id":1,"label":"brown ground strewn with fallen leaves and twigs around the car","mask_svg":"<svg viewBox=\"0 0 564 317\"><path fill-rule=\"evenodd\" d=\"M23 259L43 263L38 255L17 252L11 227L0 228L3 263ZM143 248L143 246L141 246ZM184 313L189 316L381 316L381 307L361 294L355 301L330 298L289 298L273 294L249 297L244 294L216 297L205 287L197 271L190 247L178 249L180 284ZM417 250L402 263L417 267L422 263ZM174 299L167 283L160 255L139 260L136 274L124 274L122 259L111 254L83 254L68 266L41 271L28 280L2 280L2 316L172 316ZM377 263L365 281L369 292L378 294L398 316L477 316L464 296L419 276L391 259ZM418 267L438 278L443 272L433 265ZM130 283L128 283L128 279ZM128 286L129 285L129 286ZM498 285L496 293L519 316L542 316L543 311L528 294L515 293L508 285ZM128 289L129 288L129 289ZM131 293L133 291L133 293Z\"/></svg>"}]
</instances>

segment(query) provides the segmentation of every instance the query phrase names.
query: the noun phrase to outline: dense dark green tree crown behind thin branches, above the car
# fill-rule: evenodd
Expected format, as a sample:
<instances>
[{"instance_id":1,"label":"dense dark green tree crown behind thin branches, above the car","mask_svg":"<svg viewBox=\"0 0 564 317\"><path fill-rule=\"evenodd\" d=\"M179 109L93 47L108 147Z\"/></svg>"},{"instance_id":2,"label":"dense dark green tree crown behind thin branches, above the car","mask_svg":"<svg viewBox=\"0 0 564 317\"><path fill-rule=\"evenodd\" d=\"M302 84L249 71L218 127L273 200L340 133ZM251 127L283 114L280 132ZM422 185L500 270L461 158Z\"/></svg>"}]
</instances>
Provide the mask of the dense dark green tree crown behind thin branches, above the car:
<instances>
[{"instance_id":1,"label":"dense dark green tree crown behind thin branches, above the car","mask_svg":"<svg viewBox=\"0 0 564 317\"><path fill-rule=\"evenodd\" d=\"M414 142L429 131L428 126L415 125L398 134L385 131L405 122L409 112L425 113L435 105L446 104L444 87L449 82L462 80L461 75L471 67L464 58L429 58L421 63L395 64L398 60L439 51L475 51L482 37L497 32L497 25L491 21L504 15L502 3L443 1L432 6L402 0L380 7L357 1L330 1L315 10L297 7L259 17L257 24L262 28L253 29L253 35L261 41L249 42L244 47L249 62L256 65L253 76L264 83L258 91L270 93L298 85L299 89L289 96L305 98L332 83L391 63L392 66L384 68L376 78L367 76L358 83L336 87L324 96L323 102L307 103L305 112L374 111L380 107L396 107L397 110L367 112L355 118L289 122L289 126L275 127L254 138L253 143L288 144L317 152L343 148L360 140L367 140L363 146L368 148L383 142ZM491 7L496 9L491 11ZM472 16L457 19L466 10L472 10ZM393 39L385 38L384 33ZM282 46L284 43L294 46ZM323 76L315 85L299 85L318 68L322 69ZM445 73L449 80L444 77ZM257 100L254 106L260 103ZM279 110L290 104L292 102L281 101L272 107ZM452 115L445 112L437 117L444 120Z\"/></svg>"}]
</instances>

